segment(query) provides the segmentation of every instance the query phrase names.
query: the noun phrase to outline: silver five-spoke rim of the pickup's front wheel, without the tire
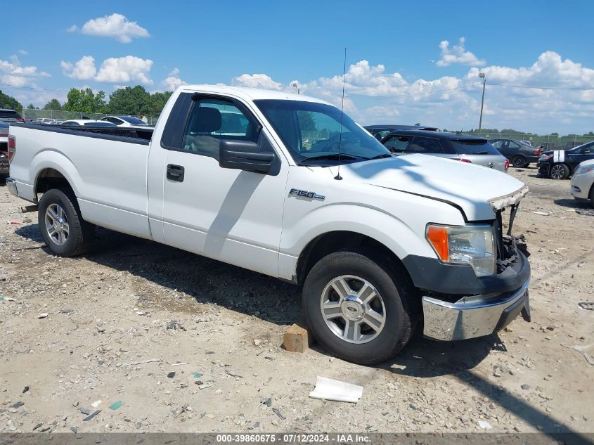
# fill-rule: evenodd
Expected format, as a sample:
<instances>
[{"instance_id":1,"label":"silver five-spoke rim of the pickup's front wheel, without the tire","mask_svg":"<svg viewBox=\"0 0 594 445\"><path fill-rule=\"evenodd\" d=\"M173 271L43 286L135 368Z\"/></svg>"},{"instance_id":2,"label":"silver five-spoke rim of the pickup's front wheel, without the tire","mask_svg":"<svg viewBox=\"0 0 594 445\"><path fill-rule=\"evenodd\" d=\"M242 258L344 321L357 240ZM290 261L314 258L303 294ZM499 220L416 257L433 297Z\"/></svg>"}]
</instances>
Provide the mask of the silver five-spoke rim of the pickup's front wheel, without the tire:
<instances>
[{"instance_id":1,"label":"silver five-spoke rim of the pickup's front wheel, without the tire","mask_svg":"<svg viewBox=\"0 0 594 445\"><path fill-rule=\"evenodd\" d=\"M358 276L332 279L322 292L320 310L332 333L349 343L370 342L386 323L380 292Z\"/></svg>"}]
</instances>

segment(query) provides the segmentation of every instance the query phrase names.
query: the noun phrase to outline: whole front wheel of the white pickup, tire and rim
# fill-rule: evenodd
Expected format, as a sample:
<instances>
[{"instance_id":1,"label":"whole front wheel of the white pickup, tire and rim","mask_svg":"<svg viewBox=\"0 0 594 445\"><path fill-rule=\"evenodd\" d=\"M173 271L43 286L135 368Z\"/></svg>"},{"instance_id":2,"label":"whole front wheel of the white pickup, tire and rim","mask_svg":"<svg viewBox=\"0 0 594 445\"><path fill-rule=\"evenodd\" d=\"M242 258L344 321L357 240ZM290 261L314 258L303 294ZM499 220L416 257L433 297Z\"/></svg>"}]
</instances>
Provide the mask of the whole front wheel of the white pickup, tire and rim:
<instances>
[{"instance_id":1,"label":"whole front wheel of the white pickup, tire and rim","mask_svg":"<svg viewBox=\"0 0 594 445\"><path fill-rule=\"evenodd\" d=\"M340 359L385 361L410 340L415 292L405 274L359 252L335 252L309 272L306 321L316 340Z\"/></svg>"}]
</instances>

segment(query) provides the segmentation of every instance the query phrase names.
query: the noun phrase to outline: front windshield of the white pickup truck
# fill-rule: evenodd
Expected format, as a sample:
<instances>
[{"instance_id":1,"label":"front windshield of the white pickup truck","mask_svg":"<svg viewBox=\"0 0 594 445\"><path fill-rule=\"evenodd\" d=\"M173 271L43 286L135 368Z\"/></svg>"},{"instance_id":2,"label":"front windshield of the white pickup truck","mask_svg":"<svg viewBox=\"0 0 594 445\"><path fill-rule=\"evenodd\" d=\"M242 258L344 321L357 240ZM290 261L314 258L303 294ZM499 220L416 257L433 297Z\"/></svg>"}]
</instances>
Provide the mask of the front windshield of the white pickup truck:
<instances>
[{"instance_id":1,"label":"front windshield of the white pickup truck","mask_svg":"<svg viewBox=\"0 0 594 445\"><path fill-rule=\"evenodd\" d=\"M290 150L303 165L337 165L390 156L387 148L340 110L323 103L254 101Z\"/></svg>"}]
</instances>

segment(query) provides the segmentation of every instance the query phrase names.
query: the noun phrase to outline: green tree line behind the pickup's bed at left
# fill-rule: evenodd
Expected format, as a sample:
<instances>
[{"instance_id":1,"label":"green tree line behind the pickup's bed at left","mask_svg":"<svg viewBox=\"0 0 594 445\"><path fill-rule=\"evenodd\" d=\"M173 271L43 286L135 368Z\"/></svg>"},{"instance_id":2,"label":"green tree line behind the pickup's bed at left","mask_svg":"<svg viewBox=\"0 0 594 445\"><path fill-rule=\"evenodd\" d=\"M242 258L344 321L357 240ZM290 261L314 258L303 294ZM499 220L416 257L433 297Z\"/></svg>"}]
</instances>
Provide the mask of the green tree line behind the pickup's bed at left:
<instances>
[{"instance_id":1,"label":"green tree line behind the pickup's bed at left","mask_svg":"<svg viewBox=\"0 0 594 445\"><path fill-rule=\"evenodd\" d=\"M105 97L105 91L103 90L93 93L90 88L72 88L68 91L65 103L60 103L58 99L53 98L41 110L98 112L106 115L136 116L143 112L148 116L158 116L171 95L172 91L149 93L141 85L117 89L108 98ZM22 115L22 104L2 91L0 91L0 108L16 110ZM39 109L32 103L27 105L27 108Z\"/></svg>"}]
</instances>

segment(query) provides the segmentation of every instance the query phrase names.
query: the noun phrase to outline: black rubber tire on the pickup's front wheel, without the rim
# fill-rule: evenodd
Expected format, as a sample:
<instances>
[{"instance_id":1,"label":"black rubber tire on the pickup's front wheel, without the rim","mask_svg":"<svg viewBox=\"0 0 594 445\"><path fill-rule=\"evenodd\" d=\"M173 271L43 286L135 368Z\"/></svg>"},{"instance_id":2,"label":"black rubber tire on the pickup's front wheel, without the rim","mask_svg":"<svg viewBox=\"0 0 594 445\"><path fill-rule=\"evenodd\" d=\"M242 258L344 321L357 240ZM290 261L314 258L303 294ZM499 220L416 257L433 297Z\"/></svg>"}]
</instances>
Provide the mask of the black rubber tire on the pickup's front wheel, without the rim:
<instances>
[{"instance_id":1,"label":"black rubber tire on the pickup's front wheel, without the rim","mask_svg":"<svg viewBox=\"0 0 594 445\"><path fill-rule=\"evenodd\" d=\"M418 304L415 288L406 272L389 264L392 262L371 259L365 252L342 251L323 257L309 271L303 286L304 314L314 337L328 352L340 359L369 365L390 359L411 339ZM322 295L329 283L340 276L361 277L380 293L385 323L373 340L347 342L326 324ZM362 332L366 328L360 329Z\"/></svg>"}]
</instances>

